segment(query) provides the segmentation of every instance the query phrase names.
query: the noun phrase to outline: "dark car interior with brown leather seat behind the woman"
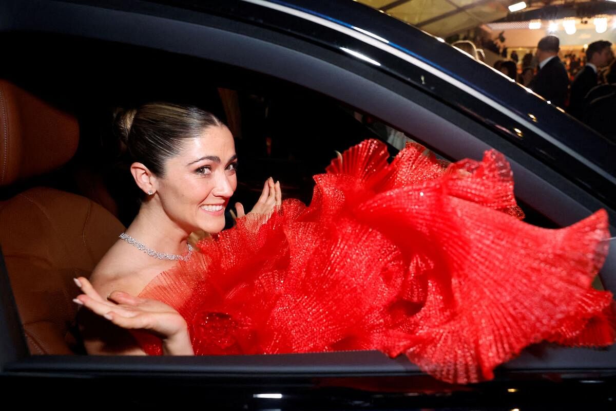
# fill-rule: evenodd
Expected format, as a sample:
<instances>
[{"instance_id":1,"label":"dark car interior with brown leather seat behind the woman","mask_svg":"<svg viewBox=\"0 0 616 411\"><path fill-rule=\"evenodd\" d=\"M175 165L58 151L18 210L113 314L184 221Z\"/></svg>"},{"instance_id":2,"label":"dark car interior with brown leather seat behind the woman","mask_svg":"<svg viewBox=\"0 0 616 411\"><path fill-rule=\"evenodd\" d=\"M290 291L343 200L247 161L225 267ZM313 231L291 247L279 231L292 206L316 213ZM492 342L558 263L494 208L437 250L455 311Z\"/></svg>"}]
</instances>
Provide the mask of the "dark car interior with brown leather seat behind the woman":
<instances>
[{"instance_id":1,"label":"dark car interior with brown leather seat behind the woman","mask_svg":"<svg viewBox=\"0 0 616 411\"><path fill-rule=\"evenodd\" d=\"M104 45L96 49L101 50ZM134 50L125 52L116 58L130 60ZM131 62L135 71L147 70L158 57L138 52ZM92 64L94 54L89 56ZM190 67L190 62L177 60ZM156 76L148 73L141 81L114 76L100 85L64 70L47 73L55 79L49 83L10 69L0 80L0 243L32 354L84 353L75 326L77 307L71 301L78 294L73 278L89 275L137 213L139 193L111 128L115 107L155 99L188 101L215 113L235 136L241 179L234 199L247 206L269 176L280 179L285 197L307 203L312 175L324 171L336 150L379 138L377 131L386 137L376 119L289 84L274 86L269 79L244 78L235 86L260 86L232 90L222 87L224 82L216 86L208 81L229 76L204 73L198 91L187 95L188 84L178 84L180 72L166 73L171 78L167 84L156 83ZM144 92L155 83L160 90ZM102 92L103 87L108 91ZM103 101L97 101L101 96Z\"/></svg>"}]
</instances>

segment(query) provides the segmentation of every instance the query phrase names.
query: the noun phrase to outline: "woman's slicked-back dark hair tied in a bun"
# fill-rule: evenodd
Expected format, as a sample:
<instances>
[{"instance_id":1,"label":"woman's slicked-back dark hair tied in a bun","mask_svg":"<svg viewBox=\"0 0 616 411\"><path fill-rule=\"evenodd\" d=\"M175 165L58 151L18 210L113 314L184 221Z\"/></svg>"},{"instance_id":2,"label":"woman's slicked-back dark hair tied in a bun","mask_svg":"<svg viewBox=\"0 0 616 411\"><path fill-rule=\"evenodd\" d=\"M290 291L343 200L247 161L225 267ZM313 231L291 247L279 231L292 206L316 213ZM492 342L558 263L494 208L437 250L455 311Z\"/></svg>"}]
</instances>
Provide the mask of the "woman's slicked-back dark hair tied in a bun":
<instances>
[{"instance_id":1,"label":"woman's slicked-back dark hair tied in a bun","mask_svg":"<svg viewBox=\"0 0 616 411\"><path fill-rule=\"evenodd\" d=\"M115 113L115 127L132 161L164 176L164 163L178 155L185 139L200 137L210 127L225 127L212 113L191 105L148 103Z\"/></svg>"}]
</instances>

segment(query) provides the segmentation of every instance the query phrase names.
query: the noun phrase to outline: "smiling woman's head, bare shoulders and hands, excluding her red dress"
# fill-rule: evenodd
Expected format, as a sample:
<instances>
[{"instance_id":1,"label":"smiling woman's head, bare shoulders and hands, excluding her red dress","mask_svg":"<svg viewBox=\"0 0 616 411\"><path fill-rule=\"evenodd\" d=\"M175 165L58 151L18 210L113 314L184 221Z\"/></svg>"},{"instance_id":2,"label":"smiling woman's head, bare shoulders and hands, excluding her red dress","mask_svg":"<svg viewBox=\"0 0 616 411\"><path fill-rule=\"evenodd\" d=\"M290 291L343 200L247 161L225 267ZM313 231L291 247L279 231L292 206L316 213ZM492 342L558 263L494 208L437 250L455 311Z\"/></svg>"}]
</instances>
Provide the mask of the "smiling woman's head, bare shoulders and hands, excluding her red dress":
<instances>
[{"instance_id":1,"label":"smiling woman's head, bare shoulders and hands, excluding her red dress","mask_svg":"<svg viewBox=\"0 0 616 411\"><path fill-rule=\"evenodd\" d=\"M184 319L162 303L134 296L160 272L190 256L193 251L188 235L197 230L217 233L224 228L225 207L237 187L233 136L214 115L197 107L146 104L118 113L116 119L134 160L132 177L144 200L126 232L95 267L90 281L82 277L76 282L84 295L75 303L121 327L156 333L162 337L166 354L192 354ZM280 183L270 177L251 213L271 213L280 203ZM243 206L235 206L238 216L243 216ZM144 312L135 315L137 309L131 311L131 306ZM159 315L149 315L153 312ZM134 338L118 327L109 327L92 316L81 318L80 324L89 354L145 354Z\"/></svg>"}]
</instances>

